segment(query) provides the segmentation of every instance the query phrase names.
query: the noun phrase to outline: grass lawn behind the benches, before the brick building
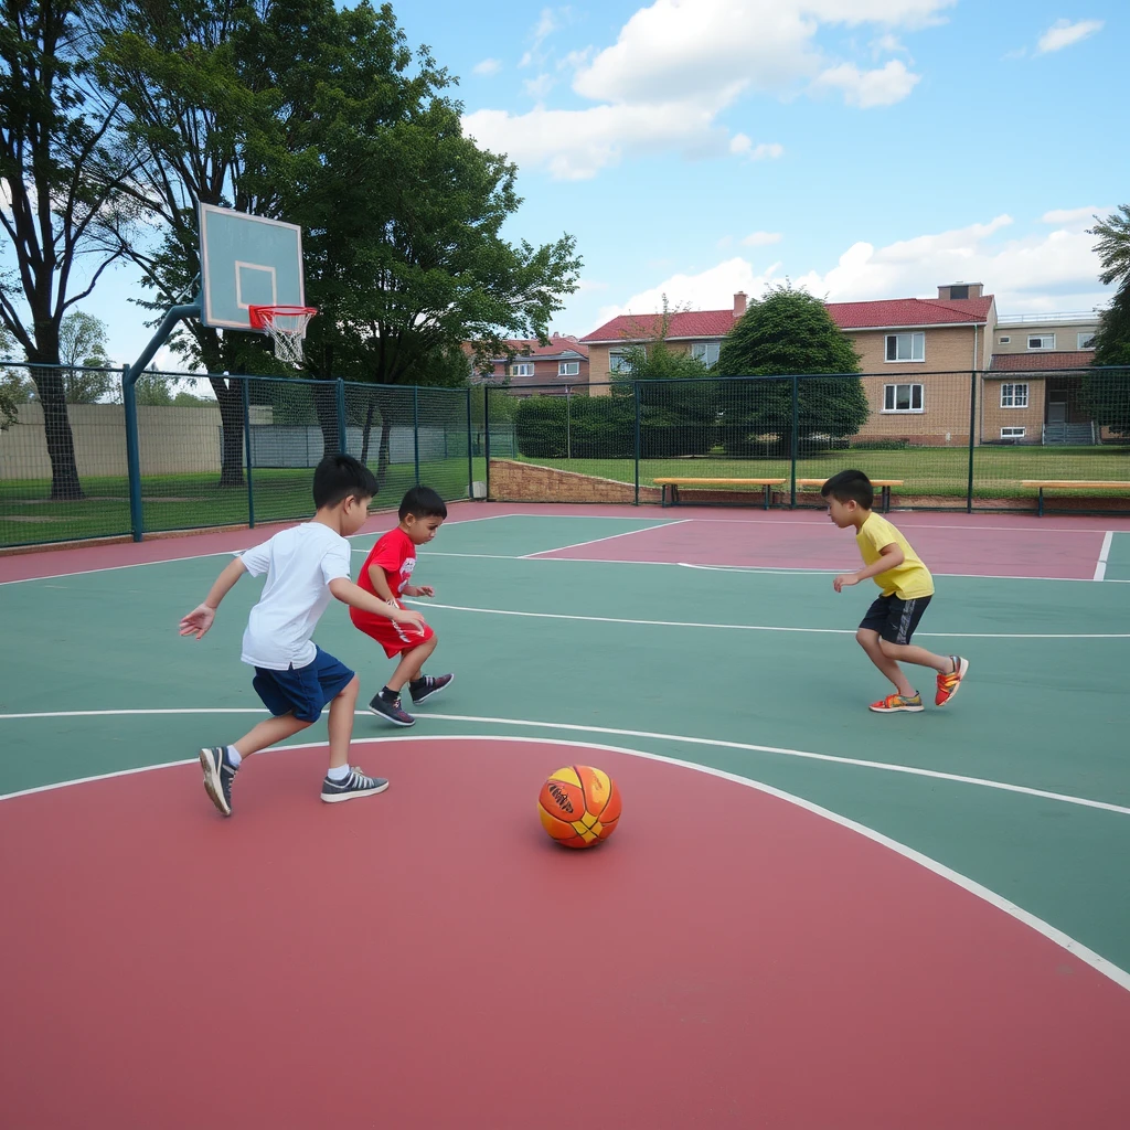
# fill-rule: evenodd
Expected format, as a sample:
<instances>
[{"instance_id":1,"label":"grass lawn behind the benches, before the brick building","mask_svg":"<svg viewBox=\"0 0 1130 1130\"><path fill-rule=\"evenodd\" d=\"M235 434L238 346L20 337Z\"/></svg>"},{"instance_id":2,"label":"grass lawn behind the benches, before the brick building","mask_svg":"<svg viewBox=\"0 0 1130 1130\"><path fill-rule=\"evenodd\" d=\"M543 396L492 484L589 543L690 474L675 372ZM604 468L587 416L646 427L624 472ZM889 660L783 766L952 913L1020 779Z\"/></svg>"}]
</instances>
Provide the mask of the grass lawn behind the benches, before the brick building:
<instances>
[{"instance_id":1,"label":"grass lawn behind the benches, before the brick building","mask_svg":"<svg viewBox=\"0 0 1130 1130\"><path fill-rule=\"evenodd\" d=\"M631 459L525 459L522 462L555 467L581 475L598 475L620 483L635 481ZM857 467L873 479L903 479L906 494L965 497L968 486L967 447L904 447L897 451L829 451L797 461L797 478L828 478L845 467ZM789 478L786 459L728 459L725 455L687 459L641 459L640 483L687 475L696 478ZM975 447L975 498L1032 498L1035 488L1022 479L1116 479L1130 481L1130 447ZM754 488L760 494L760 488ZM1070 492L1062 492L1069 494ZM1078 493L1078 492L1076 492ZM1095 495L1096 492L1083 492Z\"/></svg>"}]
</instances>

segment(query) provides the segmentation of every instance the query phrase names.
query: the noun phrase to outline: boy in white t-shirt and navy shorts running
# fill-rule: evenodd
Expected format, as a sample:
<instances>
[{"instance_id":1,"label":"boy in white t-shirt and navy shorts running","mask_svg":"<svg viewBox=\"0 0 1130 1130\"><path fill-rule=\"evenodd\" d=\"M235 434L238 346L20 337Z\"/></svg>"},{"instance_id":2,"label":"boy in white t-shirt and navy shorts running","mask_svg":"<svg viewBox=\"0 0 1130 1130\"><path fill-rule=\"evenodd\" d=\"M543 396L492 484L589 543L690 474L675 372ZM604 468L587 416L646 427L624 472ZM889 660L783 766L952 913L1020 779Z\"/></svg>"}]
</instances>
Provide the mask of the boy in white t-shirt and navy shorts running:
<instances>
[{"instance_id":1,"label":"boy in white t-shirt and navy shorts running","mask_svg":"<svg viewBox=\"0 0 1130 1130\"><path fill-rule=\"evenodd\" d=\"M419 612L381 600L349 580L349 542L368 518L376 494L373 472L349 455L327 455L314 470L318 513L302 525L276 533L233 560L216 579L205 602L181 620L181 635L198 640L211 627L219 602L250 573L267 574L259 602L243 633L243 662L255 669L253 686L273 715L231 746L200 750L205 789L212 803L232 815L232 782L244 757L305 730L330 704L330 767L322 800L336 803L384 792L389 782L349 766L349 739L357 704L357 676L311 638L330 597L401 624L423 624Z\"/></svg>"}]
</instances>

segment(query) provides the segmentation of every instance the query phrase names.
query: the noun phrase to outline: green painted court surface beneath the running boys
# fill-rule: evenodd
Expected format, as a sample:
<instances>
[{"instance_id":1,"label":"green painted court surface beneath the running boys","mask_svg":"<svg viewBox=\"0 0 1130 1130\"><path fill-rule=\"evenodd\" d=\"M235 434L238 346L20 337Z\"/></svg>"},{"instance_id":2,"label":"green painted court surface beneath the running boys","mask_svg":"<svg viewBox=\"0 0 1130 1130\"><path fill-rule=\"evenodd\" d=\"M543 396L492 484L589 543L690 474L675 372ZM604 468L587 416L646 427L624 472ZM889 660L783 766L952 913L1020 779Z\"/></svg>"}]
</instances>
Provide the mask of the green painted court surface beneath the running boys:
<instances>
[{"instance_id":1,"label":"green painted court surface beneath the running boys","mask_svg":"<svg viewBox=\"0 0 1130 1130\"><path fill-rule=\"evenodd\" d=\"M1130 968L1130 585L939 580L915 642L959 651L971 673L945 710L884 718L867 704L888 688L853 640L873 586L837 596L815 570L533 558L631 546L636 531L677 523L466 513L414 576L436 590L428 669L457 680L412 733L601 742L748 776L909 845ZM772 539L774 527L741 536ZM355 539L358 566L373 540ZM238 658L260 582L235 588L205 640L176 633L225 559L0 585L0 793L192 759L263 714ZM1106 582L1119 581L1130 581L1123 531L1106 556ZM364 701L391 670L337 605L316 638L359 672ZM932 702L929 672L921 688ZM372 736L395 732L365 713L355 737ZM310 756L316 781L321 751ZM381 771L377 755L364 758Z\"/></svg>"}]
</instances>

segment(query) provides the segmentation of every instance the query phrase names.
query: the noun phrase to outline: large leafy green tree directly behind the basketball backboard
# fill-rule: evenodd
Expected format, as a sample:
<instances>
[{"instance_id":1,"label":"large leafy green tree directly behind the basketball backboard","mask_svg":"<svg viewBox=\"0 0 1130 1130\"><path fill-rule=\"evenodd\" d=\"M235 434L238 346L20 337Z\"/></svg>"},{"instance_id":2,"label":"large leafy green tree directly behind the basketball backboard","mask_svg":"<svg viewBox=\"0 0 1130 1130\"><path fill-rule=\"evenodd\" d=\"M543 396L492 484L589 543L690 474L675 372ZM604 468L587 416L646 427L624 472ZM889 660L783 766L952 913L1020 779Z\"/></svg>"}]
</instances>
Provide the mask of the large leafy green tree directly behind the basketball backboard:
<instances>
[{"instance_id":1,"label":"large leafy green tree directly behind the basketball backboard","mask_svg":"<svg viewBox=\"0 0 1130 1130\"><path fill-rule=\"evenodd\" d=\"M504 334L545 336L576 285L574 242L501 237L521 203L514 166L463 137L461 107L444 93L453 79L426 49L408 47L391 6L172 0L155 14L118 0L107 10L104 73L149 154L139 199L157 201L169 225L144 262L166 295L198 269L203 201L304 228L306 297L320 310L304 375L447 379L460 341L489 351ZM182 342L210 373L273 371L254 336L193 325ZM212 384L231 481L238 393ZM334 450L332 388L314 401ZM390 426L383 418L382 459Z\"/></svg>"}]
</instances>

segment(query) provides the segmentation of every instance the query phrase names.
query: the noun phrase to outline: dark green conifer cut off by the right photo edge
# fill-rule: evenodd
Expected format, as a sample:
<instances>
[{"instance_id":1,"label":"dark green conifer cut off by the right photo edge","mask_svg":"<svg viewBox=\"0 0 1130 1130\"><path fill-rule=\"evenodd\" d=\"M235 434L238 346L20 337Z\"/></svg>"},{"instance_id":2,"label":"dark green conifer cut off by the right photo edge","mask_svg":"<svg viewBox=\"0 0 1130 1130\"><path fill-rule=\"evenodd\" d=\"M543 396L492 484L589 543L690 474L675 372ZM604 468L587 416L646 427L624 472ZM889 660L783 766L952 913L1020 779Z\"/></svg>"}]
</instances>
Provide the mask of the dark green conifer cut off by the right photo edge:
<instances>
[{"instance_id":1,"label":"dark green conifer cut off by the right photo edge","mask_svg":"<svg viewBox=\"0 0 1130 1130\"><path fill-rule=\"evenodd\" d=\"M1124 367L1088 373L1083 395L1097 424L1130 437L1130 205L1121 205L1099 220L1090 234L1099 237L1094 247L1103 264L1099 281L1116 284L1114 297L1098 318L1095 365Z\"/></svg>"}]
</instances>

